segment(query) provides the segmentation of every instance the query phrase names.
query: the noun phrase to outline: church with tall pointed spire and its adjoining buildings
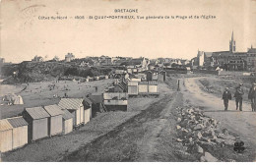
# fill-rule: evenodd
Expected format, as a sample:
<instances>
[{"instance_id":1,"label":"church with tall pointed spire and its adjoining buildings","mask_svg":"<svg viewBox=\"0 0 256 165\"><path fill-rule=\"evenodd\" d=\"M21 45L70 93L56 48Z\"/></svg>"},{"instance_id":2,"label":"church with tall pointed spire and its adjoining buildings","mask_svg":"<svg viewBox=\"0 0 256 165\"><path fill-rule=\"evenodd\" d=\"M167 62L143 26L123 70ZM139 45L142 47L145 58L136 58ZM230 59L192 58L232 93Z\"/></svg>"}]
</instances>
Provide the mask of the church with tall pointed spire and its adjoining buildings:
<instances>
[{"instance_id":1,"label":"church with tall pointed spire and its adjoining buildings","mask_svg":"<svg viewBox=\"0 0 256 165\"><path fill-rule=\"evenodd\" d=\"M217 68L225 71L255 71L256 48L248 48L247 52L237 52L233 37L229 40L228 51L205 52L199 51L197 57L192 59L192 67L195 68Z\"/></svg>"}]
</instances>

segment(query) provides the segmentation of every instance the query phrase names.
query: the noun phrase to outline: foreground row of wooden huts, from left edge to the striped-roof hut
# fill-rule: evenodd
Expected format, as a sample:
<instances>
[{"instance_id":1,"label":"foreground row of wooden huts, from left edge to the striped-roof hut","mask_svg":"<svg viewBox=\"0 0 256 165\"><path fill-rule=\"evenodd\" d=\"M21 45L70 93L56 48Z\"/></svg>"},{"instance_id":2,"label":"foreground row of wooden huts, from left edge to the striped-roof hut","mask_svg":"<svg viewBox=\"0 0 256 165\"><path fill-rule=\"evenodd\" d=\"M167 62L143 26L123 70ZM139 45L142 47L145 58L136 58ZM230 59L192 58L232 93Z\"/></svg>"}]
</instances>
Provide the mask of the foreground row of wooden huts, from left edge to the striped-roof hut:
<instances>
[{"instance_id":1,"label":"foreground row of wooden huts, from left edge to the striped-roof hut","mask_svg":"<svg viewBox=\"0 0 256 165\"><path fill-rule=\"evenodd\" d=\"M0 151L20 148L40 138L66 135L87 124L92 118L92 102L86 100L61 98L58 104L25 108L22 116L0 120Z\"/></svg>"}]
</instances>

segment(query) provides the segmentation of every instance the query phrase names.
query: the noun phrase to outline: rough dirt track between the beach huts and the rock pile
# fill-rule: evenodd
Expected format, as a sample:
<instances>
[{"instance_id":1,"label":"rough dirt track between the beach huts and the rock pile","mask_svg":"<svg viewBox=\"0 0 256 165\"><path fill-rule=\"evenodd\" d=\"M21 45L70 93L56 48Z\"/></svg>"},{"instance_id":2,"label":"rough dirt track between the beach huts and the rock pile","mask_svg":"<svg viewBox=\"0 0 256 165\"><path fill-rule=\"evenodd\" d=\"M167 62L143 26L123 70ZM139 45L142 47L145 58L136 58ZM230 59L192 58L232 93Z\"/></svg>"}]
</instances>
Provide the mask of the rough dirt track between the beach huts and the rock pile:
<instances>
[{"instance_id":1,"label":"rough dirt track between the beach huts and the rock pile","mask_svg":"<svg viewBox=\"0 0 256 165\"><path fill-rule=\"evenodd\" d=\"M197 161L176 141L175 107L182 106L182 94L173 86L162 98L106 136L67 155L63 161Z\"/></svg>"}]
</instances>

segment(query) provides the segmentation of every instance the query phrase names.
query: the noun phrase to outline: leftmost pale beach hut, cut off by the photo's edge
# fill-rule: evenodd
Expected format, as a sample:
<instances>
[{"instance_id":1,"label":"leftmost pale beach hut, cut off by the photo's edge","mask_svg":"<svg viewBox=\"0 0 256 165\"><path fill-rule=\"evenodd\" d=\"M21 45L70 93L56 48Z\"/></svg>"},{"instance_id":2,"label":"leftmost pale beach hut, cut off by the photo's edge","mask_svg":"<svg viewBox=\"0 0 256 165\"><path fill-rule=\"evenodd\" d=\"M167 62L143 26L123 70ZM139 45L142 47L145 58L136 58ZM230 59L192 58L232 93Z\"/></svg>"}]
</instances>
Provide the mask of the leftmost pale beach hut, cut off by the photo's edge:
<instances>
[{"instance_id":1,"label":"leftmost pale beach hut, cut off by the photo's edge","mask_svg":"<svg viewBox=\"0 0 256 165\"><path fill-rule=\"evenodd\" d=\"M7 119L0 120L0 151L7 152L13 149L13 127Z\"/></svg>"}]
</instances>

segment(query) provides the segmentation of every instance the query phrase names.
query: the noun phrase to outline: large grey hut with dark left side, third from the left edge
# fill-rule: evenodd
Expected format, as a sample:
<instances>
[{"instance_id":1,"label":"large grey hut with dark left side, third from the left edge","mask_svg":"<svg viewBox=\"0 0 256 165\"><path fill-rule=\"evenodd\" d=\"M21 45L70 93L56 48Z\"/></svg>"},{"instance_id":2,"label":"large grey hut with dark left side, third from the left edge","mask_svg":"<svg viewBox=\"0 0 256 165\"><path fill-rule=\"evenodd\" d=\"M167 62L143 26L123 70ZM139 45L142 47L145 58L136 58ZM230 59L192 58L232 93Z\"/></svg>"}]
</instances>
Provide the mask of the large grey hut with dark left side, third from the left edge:
<instances>
[{"instance_id":1,"label":"large grey hut with dark left side, third from the left edge","mask_svg":"<svg viewBox=\"0 0 256 165\"><path fill-rule=\"evenodd\" d=\"M25 108L23 117L29 124L29 141L48 137L48 120L50 115L42 107Z\"/></svg>"}]
</instances>

